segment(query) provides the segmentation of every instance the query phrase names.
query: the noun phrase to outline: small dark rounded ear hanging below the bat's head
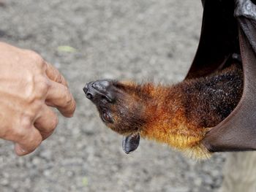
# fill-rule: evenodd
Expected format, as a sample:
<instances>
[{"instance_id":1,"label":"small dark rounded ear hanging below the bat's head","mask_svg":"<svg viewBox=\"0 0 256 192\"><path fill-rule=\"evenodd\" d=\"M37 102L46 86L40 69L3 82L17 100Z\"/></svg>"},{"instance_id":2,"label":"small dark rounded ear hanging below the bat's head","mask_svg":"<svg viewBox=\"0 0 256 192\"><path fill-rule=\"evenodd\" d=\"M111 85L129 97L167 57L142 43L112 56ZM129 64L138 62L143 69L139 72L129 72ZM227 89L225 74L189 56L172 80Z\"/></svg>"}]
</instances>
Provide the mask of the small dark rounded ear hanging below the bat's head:
<instances>
[{"instance_id":1,"label":"small dark rounded ear hanging below the bat's head","mask_svg":"<svg viewBox=\"0 0 256 192\"><path fill-rule=\"evenodd\" d=\"M125 153L129 154L135 151L140 145L140 134L131 134L124 137L122 146Z\"/></svg>"}]
</instances>

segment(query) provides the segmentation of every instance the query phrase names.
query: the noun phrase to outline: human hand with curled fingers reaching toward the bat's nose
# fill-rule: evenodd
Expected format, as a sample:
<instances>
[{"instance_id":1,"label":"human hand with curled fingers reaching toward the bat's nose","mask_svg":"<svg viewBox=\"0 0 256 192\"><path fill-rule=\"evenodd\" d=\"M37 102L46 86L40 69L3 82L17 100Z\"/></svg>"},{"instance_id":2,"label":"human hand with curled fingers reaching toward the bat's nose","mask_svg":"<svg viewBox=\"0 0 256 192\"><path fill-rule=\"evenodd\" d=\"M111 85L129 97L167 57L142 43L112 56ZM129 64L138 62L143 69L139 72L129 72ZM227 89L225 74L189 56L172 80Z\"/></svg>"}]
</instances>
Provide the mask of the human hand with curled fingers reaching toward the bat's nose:
<instances>
[{"instance_id":1,"label":"human hand with curled fingers reaching toward the bat's nose","mask_svg":"<svg viewBox=\"0 0 256 192\"><path fill-rule=\"evenodd\" d=\"M0 42L0 138L15 142L15 153L34 151L53 133L56 107L69 118L75 100L59 71L31 50Z\"/></svg>"}]
</instances>

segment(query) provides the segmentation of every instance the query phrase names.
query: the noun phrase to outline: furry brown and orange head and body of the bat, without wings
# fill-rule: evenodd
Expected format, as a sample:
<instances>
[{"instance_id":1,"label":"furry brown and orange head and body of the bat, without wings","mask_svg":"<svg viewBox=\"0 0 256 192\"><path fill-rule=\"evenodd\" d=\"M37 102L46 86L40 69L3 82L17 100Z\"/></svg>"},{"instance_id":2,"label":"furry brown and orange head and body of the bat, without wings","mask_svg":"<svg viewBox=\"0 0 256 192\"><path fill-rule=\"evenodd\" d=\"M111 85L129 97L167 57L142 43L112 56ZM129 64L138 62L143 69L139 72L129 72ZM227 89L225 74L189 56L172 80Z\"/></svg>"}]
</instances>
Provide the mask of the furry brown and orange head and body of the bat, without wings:
<instances>
[{"instance_id":1,"label":"furry brown and orange head and body of the bat, without wings","mask_svg":"<svg viewBox=\"0 0 256 192\"><path fill-rule=\"evenodd\" d=\"M192 158L208 158L202 140L232 112L243 92L240 64L175 85L96 80L83 88L106 126L124 136L125 153L140 137L162 142Z\"/></svg>"}]
</instances>

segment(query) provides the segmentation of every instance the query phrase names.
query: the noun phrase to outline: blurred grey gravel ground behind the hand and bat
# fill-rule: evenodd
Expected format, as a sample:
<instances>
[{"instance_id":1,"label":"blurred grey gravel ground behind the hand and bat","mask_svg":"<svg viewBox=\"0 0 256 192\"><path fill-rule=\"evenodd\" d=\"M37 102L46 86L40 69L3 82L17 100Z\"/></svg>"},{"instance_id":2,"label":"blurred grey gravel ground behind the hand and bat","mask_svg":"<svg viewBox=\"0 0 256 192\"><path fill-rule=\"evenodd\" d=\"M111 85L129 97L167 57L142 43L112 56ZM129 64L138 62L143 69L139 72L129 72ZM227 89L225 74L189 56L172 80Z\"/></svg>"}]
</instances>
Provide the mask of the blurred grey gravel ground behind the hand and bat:
<instances>
[{"instance_id":1,"label":"blurred grey gravel ground behind the hand and bat","mask_svg":"<svg viewBox=\"0 0 256 192\"><path fill-rule=\"evenodd\" d=\"M17 157L11 142L0 141L1 192L217 191L225 155L192 161L144 140L126 155L122 137L105 128L82 91L102 78L183 80L200 36L199 0L1 1L1 41L40 53L77 101L75 116L60 116L53 136L31 155Z\"/></svg>"}]
</instances>

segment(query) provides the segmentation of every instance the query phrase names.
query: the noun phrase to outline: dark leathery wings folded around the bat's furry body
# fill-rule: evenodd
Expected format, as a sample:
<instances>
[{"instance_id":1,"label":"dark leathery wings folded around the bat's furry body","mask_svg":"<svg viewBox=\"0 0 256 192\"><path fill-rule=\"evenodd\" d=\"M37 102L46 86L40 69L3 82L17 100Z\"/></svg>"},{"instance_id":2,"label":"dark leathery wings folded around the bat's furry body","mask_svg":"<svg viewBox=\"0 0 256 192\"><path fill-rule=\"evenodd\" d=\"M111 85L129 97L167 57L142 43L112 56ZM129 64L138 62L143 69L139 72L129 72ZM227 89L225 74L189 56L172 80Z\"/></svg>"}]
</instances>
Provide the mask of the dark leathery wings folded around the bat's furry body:
<instances>
[{"instance_id":1,"label":"dark leathery wings folded around the bat's furry body","mask_svg":"<svg viewBox=\"0 0 256 192\"><path fill-rule=\"evenodd\" d=\"M244 90L238 106L202 141L211 152L256 150L255 9L251 1L236 0L236 7L234 1L204 1L200 43L186 78L203 77L222 69L233 53L241 54L244 72ZM233 17L234 10L237 18Z\"/></svg>"}]
</instances>

